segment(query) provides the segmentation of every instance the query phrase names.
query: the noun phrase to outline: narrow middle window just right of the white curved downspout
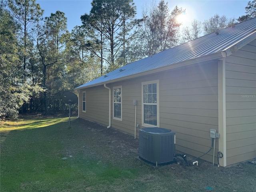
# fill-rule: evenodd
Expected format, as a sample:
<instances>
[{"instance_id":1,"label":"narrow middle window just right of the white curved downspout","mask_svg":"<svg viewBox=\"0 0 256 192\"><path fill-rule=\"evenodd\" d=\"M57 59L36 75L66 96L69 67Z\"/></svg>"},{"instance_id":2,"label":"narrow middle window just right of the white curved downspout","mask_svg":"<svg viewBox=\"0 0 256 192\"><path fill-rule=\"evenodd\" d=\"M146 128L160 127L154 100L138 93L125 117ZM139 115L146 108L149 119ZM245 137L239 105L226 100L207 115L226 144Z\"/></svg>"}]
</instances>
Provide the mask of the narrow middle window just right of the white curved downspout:
<instances>
[{"instance_id":1,"label":"narrow middle window just right of the white curved downspout","mask_svg":"<svg viewBox=\"0 0 256 192\"><path fill-rule=\"evenodd\" d=\"M113 87L113 119L122 121L122 86Z\"/></svg>"}]
</instances>

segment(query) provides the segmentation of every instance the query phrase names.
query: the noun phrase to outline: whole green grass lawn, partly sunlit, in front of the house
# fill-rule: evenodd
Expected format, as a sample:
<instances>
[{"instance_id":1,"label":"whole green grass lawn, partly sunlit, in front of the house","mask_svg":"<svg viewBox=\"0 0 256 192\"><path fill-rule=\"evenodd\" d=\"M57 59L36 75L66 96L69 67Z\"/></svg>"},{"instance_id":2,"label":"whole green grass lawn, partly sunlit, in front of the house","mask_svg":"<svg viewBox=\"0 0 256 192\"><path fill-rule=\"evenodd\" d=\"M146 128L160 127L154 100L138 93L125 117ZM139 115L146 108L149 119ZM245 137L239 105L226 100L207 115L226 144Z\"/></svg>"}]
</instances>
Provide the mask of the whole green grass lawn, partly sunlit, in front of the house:
<instances>
[{"instance_id":1,"label":"whole green grass lawn, partly sunlit, in front of the house","mask_svg":"<svg viewBox=\"0 0 256 192\"><path fill-rule=\"evenodd\" d=\"M77 118L68 128L68 120L2 122L1 192L256 192L255 164L153 168L120 145L120 133Z\"/></svg>"}]
</instances>

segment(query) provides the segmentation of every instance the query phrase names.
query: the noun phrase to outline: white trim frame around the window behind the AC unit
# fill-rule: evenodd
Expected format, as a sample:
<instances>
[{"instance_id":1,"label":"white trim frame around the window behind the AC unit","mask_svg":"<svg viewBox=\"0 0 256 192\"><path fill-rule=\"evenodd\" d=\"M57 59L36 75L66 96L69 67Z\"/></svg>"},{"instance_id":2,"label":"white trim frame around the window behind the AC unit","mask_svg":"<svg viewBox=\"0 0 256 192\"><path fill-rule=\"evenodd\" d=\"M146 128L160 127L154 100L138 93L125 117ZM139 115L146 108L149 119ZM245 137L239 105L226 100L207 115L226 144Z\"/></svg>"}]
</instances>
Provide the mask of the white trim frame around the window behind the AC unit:
<instances>
[{"instance_id":1,"label":"white trim frame around the window behind the AC unit","mask_svg":"<svg viewBox=\"0 0 256 192\"><path fill-rule=\"evenodd\" d=\"M157 98L156 98L156 110L157 110L157 125L151 125L151 124L146 124L144 123L144 99L143 99L143 85L146 84L153 84L156 83L156 94L157 94ZM142 108L142 126L144 127L160 127L160 112L159 112L159 80L153 80L153 81L147 81L147 82L142 82L141 83L141 108Z\"/></svg>"}]
</instances>

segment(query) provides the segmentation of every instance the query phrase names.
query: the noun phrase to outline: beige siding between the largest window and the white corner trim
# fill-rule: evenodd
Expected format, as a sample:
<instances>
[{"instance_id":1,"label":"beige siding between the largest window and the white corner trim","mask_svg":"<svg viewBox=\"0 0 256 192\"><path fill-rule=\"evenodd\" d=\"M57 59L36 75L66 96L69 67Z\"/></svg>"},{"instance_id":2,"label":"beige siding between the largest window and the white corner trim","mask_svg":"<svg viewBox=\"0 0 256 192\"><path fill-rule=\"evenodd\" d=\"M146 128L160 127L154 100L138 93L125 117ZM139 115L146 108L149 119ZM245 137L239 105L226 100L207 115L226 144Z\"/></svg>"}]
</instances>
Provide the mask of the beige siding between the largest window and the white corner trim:
<instances>
[{"instance_id":1,"label":"beige siding between the largest window and the white corner trim","mask_svg":"<svg viewBox=\"0 0 256 192\"><path fill-rule=\"evenodd\" d=\"M177 150L201 156L212 144L209 130L218 130L217 64L180 68L162 77L160 127L176 132ZM203 158L212 161L212 154Z\"/></svg>"}]
</instances>

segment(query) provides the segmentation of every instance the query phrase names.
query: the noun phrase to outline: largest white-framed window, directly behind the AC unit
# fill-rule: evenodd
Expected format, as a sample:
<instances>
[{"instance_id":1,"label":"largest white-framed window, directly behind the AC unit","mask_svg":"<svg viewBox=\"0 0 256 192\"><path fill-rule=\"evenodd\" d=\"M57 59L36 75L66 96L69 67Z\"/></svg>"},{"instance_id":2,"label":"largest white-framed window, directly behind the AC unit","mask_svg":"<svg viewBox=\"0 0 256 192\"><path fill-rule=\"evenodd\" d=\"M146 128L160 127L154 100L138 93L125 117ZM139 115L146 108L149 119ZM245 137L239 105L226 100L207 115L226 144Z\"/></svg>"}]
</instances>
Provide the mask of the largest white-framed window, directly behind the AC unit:
<instances>
[{"instance_id":1,"label":"largest white-framed window, directly behind the AC unit","mask_svg":"<svg viewBox=\"0 0 256 192\"><path fill-rule=\"evenodd\" d=\"M142 82L143 126L159 126L159 81Z\"/></svg>"}]
</instances>

